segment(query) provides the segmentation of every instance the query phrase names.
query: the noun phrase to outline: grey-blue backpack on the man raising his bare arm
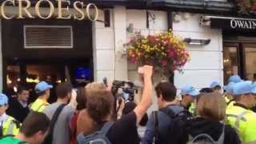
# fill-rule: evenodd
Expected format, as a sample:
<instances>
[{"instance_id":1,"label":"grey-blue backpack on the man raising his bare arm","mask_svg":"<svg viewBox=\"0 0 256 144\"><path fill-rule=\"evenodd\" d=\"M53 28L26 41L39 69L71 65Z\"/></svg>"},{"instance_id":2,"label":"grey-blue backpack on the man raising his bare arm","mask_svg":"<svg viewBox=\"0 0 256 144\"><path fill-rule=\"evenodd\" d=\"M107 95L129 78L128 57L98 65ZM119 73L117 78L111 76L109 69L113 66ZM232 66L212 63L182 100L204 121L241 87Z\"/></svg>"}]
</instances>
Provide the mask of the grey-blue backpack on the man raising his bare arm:
<instances>
[{"instance_id":1,"label":"grey-blue backpack on the man raising his bare arm","mask_svg":"<svg viewBox=\"0 0 256 144\"><path fill-rule=\"evenodd\" d=\"M114 125L114 122L106 122L102 129L96 131L94 134L84 136L84 134L78 134L78 144L111 144L108 138L106 138L107 132Z\"/></svg>"}]
</instances>

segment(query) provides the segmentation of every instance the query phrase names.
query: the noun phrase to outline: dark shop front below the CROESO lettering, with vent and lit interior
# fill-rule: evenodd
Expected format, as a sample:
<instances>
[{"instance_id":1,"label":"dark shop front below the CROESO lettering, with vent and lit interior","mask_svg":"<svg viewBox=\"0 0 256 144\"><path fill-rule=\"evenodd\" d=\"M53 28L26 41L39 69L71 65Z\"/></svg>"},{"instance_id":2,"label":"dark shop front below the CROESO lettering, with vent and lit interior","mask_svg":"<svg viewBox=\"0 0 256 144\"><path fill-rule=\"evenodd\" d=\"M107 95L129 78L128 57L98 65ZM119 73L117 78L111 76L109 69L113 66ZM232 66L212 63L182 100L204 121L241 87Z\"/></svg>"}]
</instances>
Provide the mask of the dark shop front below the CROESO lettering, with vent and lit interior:
<instances>
[{"instance_id":1,"label":"dark shop front below the CROESO lettering, with vent and lit interior","mask_svg":"<svg viewBox=\"0 0 256 144\"><path fill-rule=\"evenodd\" d=\"M54 86L94 80L92 22L58 19L2 19L3 90L39 81ZM52 90L54 94L54 90ZM55 97L51 97L54 101Z\"/></svg>"}]
</instances>

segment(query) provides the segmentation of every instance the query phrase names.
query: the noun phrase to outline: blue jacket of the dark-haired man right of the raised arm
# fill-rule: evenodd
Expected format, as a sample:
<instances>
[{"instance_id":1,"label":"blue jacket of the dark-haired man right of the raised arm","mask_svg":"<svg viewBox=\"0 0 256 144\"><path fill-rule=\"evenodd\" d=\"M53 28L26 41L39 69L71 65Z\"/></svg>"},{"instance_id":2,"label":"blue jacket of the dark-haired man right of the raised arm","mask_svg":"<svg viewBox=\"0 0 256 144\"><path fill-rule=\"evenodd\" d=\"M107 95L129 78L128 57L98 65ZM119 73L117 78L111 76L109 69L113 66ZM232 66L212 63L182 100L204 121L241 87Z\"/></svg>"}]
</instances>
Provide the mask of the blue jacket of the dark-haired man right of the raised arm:
<instances>
[{"instance_id":1,"label":"blue jacket of the dark-haired man right of the raised arm","mask_svg":"<svg viewBox=\"0 0 256 144\"><path fill-rule=\"evenodd\" d=\"M182 106L178 105L171 105L168 106L168 109L174 111L174 113L179 113L183 109ZM170 127L171 123L170 117L162 111L158 111L158 133L159 133L159 141L162 143L168 137L168 128ZM144 134L144 138L142 139L142 144L152 144L154 142L154 116L153 114L150 115L150 119L146 125L146 132Z\"/></svg>"}]
</instances>

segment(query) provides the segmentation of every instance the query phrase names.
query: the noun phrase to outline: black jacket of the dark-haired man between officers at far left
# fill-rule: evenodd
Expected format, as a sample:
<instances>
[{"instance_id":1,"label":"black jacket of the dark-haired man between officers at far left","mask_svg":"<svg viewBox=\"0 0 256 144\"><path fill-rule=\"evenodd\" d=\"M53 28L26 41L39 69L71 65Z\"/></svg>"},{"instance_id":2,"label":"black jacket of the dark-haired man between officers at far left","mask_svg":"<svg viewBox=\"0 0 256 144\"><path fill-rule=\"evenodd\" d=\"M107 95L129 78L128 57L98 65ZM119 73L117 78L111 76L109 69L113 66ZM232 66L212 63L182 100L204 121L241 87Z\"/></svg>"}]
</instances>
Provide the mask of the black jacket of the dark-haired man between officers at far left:
<instances>
[{"instance_id":1,"label":"black jacket of the dark-haired man between officers at far left","mask_svg":"<svg viewBox=\"0 0 256 144\"><path fill-rule=\"evenodd\" d=\"M17 98L11 98L6 113L14 117L18 122L23 122L27 114L30 113L30 109L28 106L23 107Z\"/></svg>"}]
</instances>

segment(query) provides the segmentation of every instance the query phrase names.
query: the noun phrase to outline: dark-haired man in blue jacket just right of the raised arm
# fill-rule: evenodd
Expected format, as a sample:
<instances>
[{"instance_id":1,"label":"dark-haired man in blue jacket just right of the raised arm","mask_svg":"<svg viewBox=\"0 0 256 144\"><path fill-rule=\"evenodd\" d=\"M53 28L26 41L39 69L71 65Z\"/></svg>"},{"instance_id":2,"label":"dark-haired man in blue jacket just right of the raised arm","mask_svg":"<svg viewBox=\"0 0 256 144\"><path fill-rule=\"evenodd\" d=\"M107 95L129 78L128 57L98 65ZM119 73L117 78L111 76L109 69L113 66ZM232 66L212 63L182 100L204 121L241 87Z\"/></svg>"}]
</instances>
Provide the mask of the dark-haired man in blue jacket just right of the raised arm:
<instances>
[{"instance_id":1,"label":"dark-haired man in blue jacket just right of the raised arm","mask_svg":"<svg viewBox=\"0 0 256 144\"><path fill-rule=\"evenodd\" d=\"M143 144L151 144L154 142L155 136L158 137L157 144L168 144L170 143L169 133L170 127L174 125L172 119L165 110L173 111L174 114L182 112L183 107L176 104L176 87L170 82L161 82L155 87L155 91L158 97L159 111L156 116L151 114L149 122L146 125L146 132L143 138ZM158 118L158 126L155 126L155 117ZM158 128L157 128L158 127ZM158 131L158 135L155 135Z\"/></svg>"}]
</instances>

